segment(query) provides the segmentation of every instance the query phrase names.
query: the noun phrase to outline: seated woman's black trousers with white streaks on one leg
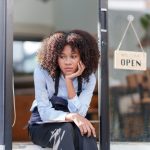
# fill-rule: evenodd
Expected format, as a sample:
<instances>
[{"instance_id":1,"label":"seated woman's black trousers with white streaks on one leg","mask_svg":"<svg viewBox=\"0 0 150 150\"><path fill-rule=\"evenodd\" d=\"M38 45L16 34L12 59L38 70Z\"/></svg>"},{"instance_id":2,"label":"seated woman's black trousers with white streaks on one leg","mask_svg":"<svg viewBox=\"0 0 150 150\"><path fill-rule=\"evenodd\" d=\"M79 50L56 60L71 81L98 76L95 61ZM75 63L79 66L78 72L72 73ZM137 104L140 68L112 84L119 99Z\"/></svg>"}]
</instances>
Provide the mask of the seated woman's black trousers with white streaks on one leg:
<instances>
[{"instance_id":1,"label":"seated woman's black trousers with white streaks on one leg","mask_svg":"<svg viewBox=\"0 0 150 150\"><path fill-rule=\"evenodd\" d=\"M82 136L74 123L46 123L29 125L34 144L52 150L97 150L96 138Z\"/></svg>"}]
</instances>

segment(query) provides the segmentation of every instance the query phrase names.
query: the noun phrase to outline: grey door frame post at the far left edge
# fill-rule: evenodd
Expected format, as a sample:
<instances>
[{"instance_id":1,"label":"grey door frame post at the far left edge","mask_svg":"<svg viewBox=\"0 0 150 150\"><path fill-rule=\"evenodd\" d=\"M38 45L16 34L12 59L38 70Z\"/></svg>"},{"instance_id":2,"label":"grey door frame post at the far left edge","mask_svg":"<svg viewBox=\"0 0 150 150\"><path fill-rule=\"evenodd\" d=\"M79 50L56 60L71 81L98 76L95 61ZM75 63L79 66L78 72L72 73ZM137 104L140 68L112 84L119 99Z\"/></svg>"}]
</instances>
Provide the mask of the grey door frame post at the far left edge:
<instances>
[{"instance_id":1,"label":"grey door frame post at the far left edge","mask_svg":"<svg viewBox=\"0 0 150 150\"><path fill-rule=\"evenodd\" d=\"M12 150L13 0L0 1L0 150Z\"/></svg>"}]
</instances>

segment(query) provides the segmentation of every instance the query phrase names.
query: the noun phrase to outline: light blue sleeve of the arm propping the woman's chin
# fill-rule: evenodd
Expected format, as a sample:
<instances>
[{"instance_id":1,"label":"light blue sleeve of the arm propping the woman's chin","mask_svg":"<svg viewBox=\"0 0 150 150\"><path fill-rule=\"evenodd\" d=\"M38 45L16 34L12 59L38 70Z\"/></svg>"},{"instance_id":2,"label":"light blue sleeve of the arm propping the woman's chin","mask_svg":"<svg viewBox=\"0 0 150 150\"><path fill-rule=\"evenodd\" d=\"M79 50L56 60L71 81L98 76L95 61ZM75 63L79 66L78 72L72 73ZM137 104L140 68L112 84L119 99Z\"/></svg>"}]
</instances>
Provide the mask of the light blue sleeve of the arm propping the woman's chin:
<instances>
[{"instance_id":1,"label":"light blue sleeve of the arm propping the woman's chin","mask_svg":"<svg viewBox=\"0 0 150 150\"><path fill-rule=\"evenodd\" d=\"M72 99L68 99L68 108L70 112L79 113L82 116L86 116L92 96L96 85L96 77L93 74L89 77L89 82L83 85L82 92L79 96L75 96Z\"/></svg>"}]
</instances>

